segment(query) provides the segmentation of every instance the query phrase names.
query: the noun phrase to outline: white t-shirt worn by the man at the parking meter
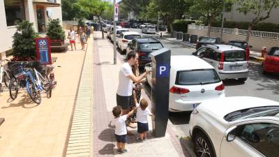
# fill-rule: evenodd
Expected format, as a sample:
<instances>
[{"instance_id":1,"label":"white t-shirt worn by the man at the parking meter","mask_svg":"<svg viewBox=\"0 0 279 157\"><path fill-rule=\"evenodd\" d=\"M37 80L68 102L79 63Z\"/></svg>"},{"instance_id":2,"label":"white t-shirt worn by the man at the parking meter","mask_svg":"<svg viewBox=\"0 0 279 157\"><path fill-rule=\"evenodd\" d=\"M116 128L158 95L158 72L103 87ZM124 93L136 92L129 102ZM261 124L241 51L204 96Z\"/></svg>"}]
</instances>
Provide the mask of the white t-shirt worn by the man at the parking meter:
<instances>
[{"instance_id":1,"label":"white t-shirt worn by the man at the parking meter","mask_svg":"<svg viewBox=\"0 0 279 157\"><path fill-rule=\"evenodd\" d=\"M132 96L133 81L128 77L131 74L133 74L132 67L129 63L123 63L119 70L119 84L117 89L119 96Z\"/></svg>"}]
</instances>

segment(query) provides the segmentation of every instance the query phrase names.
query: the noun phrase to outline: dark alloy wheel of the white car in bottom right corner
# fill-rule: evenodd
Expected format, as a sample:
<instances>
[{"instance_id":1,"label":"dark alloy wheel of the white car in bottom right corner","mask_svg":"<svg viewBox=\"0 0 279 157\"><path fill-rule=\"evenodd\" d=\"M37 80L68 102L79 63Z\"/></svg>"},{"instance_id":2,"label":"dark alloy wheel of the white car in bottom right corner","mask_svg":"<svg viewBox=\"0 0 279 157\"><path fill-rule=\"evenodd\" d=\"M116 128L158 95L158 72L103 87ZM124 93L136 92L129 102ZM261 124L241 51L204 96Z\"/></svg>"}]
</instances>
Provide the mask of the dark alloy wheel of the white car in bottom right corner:
<instances>
[{"instance_id":1,"label":"dark alloy wheel of the white car in bottom right corner","mask_svg":"<svg viewBox=\"0 0 279 157\"><path fill-rule=\"evenodd\" d=\"M213 151L213 146L204 133L196 133L194 137L194 145L197 157L216 157Z\"/></svg>"}]
</instances>

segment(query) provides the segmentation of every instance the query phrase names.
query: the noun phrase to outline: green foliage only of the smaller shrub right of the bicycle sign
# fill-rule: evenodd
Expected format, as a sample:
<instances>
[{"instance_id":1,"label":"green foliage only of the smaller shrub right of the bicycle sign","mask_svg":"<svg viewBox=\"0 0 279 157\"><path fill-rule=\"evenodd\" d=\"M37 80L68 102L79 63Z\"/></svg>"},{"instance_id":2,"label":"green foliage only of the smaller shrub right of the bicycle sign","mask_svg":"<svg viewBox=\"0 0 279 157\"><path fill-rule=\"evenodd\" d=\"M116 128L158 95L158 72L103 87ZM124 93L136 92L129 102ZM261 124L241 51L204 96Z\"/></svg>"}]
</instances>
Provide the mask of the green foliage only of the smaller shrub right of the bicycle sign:
<instances>
[{"instance_id":1,"label":"green foliage only of the smaller shrub right of the bicycle sign","mask_svg":"<svg viewBox=\"0 0 279 157\"><path fill-rule=\"evenodd\" d=\"M59 19L50 20L47 24L47 36L50 39L64 40L66 38L65 31L60 25Z\"/></svg>"}]
</instances>

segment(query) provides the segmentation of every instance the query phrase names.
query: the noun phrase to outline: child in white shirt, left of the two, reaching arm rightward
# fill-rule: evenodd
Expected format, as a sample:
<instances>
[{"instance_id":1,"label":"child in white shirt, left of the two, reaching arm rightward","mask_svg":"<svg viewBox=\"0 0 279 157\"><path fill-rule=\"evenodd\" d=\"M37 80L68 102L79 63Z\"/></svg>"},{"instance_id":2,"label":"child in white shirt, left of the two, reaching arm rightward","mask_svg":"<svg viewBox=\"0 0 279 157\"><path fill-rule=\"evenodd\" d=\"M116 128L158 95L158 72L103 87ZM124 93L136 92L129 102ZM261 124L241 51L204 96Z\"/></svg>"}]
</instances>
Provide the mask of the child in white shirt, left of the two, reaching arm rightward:
<instances>
[{"instance_id":1,"label":"child in white shirt, left of the two, reaching arm rightward","mask_svg":"<svg viewBox=\"0 0 279 157\"><path fill-rule=\"evenodd\" d=\"M127 135L127 128L126 128L126 119L130 117L136 108L131 110L128 114L122 114L122 107L116 106L112 110L112 114L114 115L114 119L112 120L112 126L115 126L115 138L117 141L117 152L119 154L127 153L128 150L125 149L126 143L126 135Z\"/></svg>"}]
</instances>

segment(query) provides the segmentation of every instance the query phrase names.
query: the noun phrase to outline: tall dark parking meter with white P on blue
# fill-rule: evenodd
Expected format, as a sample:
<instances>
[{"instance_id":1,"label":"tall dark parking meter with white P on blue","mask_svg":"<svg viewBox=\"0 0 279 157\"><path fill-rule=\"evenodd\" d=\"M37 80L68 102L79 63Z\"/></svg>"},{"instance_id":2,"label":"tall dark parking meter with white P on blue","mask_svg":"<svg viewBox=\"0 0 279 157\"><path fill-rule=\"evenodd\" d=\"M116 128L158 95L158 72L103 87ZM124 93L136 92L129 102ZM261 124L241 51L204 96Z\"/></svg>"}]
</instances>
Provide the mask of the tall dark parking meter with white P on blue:
<instances>
[{"instance_id":1,"label":"tall dark parking meter with white P on blue","mask_svg":"<svg viewBox=\"0 0 279 157\"><path fill-rule=\"evenodd\" d=\"M164 137L169 118L169 69L170 50L163 48L151 53L151 111L153 134L155 137Z\"/></svg>"}]
</instances>

